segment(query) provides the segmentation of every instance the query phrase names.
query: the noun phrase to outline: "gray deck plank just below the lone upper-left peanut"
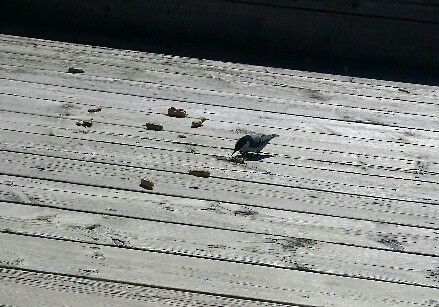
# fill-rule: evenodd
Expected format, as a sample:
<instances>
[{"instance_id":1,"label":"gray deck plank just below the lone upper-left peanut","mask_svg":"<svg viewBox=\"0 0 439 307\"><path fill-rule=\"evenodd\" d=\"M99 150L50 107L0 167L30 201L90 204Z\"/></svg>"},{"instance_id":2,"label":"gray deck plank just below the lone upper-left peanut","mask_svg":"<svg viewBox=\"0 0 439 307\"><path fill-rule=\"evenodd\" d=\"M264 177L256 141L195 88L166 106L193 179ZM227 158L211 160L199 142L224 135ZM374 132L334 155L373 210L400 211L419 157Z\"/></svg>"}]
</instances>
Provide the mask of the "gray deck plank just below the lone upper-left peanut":
<instances>
[{"instance_id":1,"label":"gray deck plank just below the lone upper-left peanut","mask_svg":"<svg viewBox=\"0 0 439 307\"><path fill-rule=\"evenodd\" d=\"M222 87L216 89L211 88L195 88L187 86L178 86L172 83L154 83L142 82L136 80L124 80L116 78L108 78L107 72L103 72L102 76L71 76L63 71L42 70L39 68L29 68L34 74L26 73L25 66L11 66L9 64L1 65L3 69L8 71L12 81L22 83L36 83L42 87L56 87L83 90L95 93L111 93L125 96L125 99L131 98L160 98L174 103L185 102L203 106L220 106L233 109L247 109L253 111L265 111L268 113L283 113L301 118L314 118L319 121L327 122L328 120L336 120L348 123L364 123L373 125L383 125L395 128L406 128L409 130L420 131L437 131L432 130L432 124L437 124L437 106L433 106L423 113L414 112L394 112L392 110L376 110L364 109L361 107L343 107L339 105L340 100L344 100L352 105L354 101L351 96L336 97L331 104L325 104L321 101L326 100L325 97L317 94L309 94L309 90L304 90L305 94L299 97L293 93L287 93L284 97L258 96L251 93L235 93L222 91ZM37 77L38 73L38 77ZM162 76L163 78L163 76ZM157 79L157 77L153 78ZM232 81L231 81L232 82ZM129 84L127 87L125 84ZM221 83L219 83L221 84ZM220 89L221 88L221 89ZM276 93L283 92L276 89ZM310 97L316 96L316 97ZM329 99L329 98L328 98ZM368 103L368 100L374 100L374 97L366 97L360 99L359 105ZM375 99L376 100L376 99ZM251 102L251 103L250 103ZM408 102L410 107L417 108L417 104ZM389 116L391 115L391 116Z\"/></svg>"}]
</instances>

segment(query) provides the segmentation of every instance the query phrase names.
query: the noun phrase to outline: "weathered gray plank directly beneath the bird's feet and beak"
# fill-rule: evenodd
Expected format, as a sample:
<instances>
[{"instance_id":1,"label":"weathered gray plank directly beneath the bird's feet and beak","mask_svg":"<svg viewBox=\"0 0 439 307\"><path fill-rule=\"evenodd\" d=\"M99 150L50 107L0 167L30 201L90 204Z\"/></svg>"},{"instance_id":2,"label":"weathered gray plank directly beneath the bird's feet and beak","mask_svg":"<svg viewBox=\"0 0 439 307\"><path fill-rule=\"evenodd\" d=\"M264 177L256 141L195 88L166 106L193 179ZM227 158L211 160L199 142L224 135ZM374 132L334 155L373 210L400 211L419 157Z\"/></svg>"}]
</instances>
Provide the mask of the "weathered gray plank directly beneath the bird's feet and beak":
<instances>
[{"instance_id":1,"label":"weathered gray plank directly beneath the bird's feet and beak","mask_svg":"<svg viewBox=\"0 0 439 307\"><path fill-rule=\"evenodd\" d=\"M72 122L68 122L72 124ZM2 125L3 126L3 125ZM331 172L331 180L336 180L339 176L355 178L357 185L367 184L368 180L392 180L404 181L409 185L425 184L435 185L439 184L437 181L437 164L432 164L421 169L422 165L416 168L411 164L404 165L401 163L398 166L383 166L381 164L368 164L350 162L348 159L342 161L337 160L318 160L314 154L310 152L307 158L299 157L276 157L266 156L265 159L259 161L252 161L249 158L245 164L237 165L228 161L231 149L220 148L215 145L203 144L203 138L200 143L194 143L197 137L187 136L184 140L175 136L175 134L160 133L154 137L153 134L144 133L143 137L138 134L138 139L122 139L113 138L111 136L117 132L124 132L125 129L106 130L107 137L101 137L98 130L95 130L95 135L100 139L93 139L93 134L88 138L84 138L79 129L71 127L69 130L52 130L49 127L39 127L41 132L35 131L37 129L21 130L23 125L17 123L6 123L6 127L1 127L4 132L1 136L2 144L0 148L3 150L18 150L21 152L37 153L40 155L51 155L59 157L68 157L75 159L98 159L104 162L116 162L128 165L136 165L141 163L143 165L154 166L157 169L175 170L181 166L196 167L203 165L207 168L217 171L217 175L226 176L231 179L247 179L261 181L261 176L271 176L272 183L286 184L297 186L297 180L301 179L302 184L305 183L306 178L314 179L314 173L319 171L322 174ZM111 126L110 126L111 127ZM30 127L29 127L30 128ZM69 128L66 128L69 129ZM79 130L81 131L81 130ZM125 130L126 131L126 130ZM58 132L60 132L58 134ZM67 132L67 133L66 133ZM69 133L70 132L70 133ZM76 133L75 133L76 132ZM136 131L137 132L137 131ZM96 134L99 133L99 134ZM126 132L129 135L129 132ZM56 135L56 136L55 136ZM59 147L59 142L65 142L65 147ZM125 149L130 150L125 153ZM275 145L270 145L271 149L276 149ZM145 150L148 150L148 155L145 155ZM192 154L191 154L192 153ZM291 150L290 155L295 153ZM299 153L296 153L298 155ZM262 156L263 157L263 156ZM306 173L304 173L306 172ZM255 174L252 176L251 174ZM369 179L368 179L369 178ZM329 178L328 178L329 179ZM344 180L340 179L341 184ZM293 184L296 182L296 184ZM309 187L317 187L318 180L314 184L310 182ZM370 185L370 182L369 182Z\"/></svg>"}]
</instances>

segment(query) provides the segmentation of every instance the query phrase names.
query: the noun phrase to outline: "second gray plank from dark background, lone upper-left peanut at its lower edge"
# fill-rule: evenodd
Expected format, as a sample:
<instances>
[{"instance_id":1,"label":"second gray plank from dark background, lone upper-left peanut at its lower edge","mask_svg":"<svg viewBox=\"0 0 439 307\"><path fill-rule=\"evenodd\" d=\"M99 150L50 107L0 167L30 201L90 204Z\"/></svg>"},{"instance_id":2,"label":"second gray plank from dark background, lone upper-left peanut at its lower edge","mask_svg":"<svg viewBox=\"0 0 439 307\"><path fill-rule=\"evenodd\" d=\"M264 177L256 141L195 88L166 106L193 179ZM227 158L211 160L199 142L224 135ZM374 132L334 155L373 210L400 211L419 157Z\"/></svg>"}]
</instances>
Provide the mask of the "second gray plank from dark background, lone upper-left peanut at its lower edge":
<instances>
[{"instance_id":1,"label":"second gray plank from dark background, lone upper-left peanut at its lower edge","mask_svg":"<svg viewBox=\"0 0 439 307\"><path fill-rule=\"evenodd\" d=\"M4 49L16 50L16 47L5 46ZM283 75L273 78L271 75L255 77L254 74L242 76L233 72L221 72L216 67L201 67L201 71L192 63L176 62L175 66L165 63L155 63L148 59L142 61L139 57L120 59L115 57L108 61L99 55L94 57L90 52L78 55L77 53L67 57L59 57L59 54L47 50L46 53L38 52L33 55L29 48L24 47L24 53L4 51L1 64L38 71L64 72L66 67L72 65L86 67L88 76L106 77L111 75L125 82L145 82L147 84L173 84L186 88L199 90L216 90L225 94L237 96L249 95L251 97L267 99L289 99L291 102L329 105L334 108L348 108L353 111L366 110L376 113L392 113L399 115L431 115L436 112L435 102L432 97L420 96L411 93L405 88L396 88L388 91L387 88L376 90L373 86L362 86L358 89L351 83L321 81L319 79L307 80L303 78L289 80ZM36 49L39 51L40 49ZM135 61L132 63L131 61ZM129 62L128 62L129 61ZM143 64L143 65L142 65ZM7 67L7 66L5 66ZM188 79L190 78L190 79ZM400 93L405 93L401 95ZM411 94L410 96L408 94ZM383 106L383 101L386 105ZM365 105L364 103L367 102ZM411 108L418 106L416 112Z\"/></svg>"}]
</instances>

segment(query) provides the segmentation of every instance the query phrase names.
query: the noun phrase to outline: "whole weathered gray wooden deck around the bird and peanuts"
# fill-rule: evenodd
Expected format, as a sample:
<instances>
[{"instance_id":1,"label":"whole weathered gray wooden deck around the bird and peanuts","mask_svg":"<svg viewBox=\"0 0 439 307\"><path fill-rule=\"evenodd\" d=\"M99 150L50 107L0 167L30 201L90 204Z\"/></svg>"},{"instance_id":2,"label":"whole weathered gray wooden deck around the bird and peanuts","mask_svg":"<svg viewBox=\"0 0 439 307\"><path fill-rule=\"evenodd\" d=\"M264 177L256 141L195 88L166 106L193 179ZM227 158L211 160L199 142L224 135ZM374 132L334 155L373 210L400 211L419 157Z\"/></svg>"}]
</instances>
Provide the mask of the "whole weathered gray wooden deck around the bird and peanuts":
<instances>
[{"instance_id":1,"label":"whole weathered gray wooden deck around the bird and peanuts","mask_svg":"<svg viewBox=\"0 0 439 307\"><path fill-rule=\"evenodd\" d=\"M1 306L439 306L438 87L7 35L0 54ZM280 136L228 161L247 132Z\"/></svg>"}]
</instances>

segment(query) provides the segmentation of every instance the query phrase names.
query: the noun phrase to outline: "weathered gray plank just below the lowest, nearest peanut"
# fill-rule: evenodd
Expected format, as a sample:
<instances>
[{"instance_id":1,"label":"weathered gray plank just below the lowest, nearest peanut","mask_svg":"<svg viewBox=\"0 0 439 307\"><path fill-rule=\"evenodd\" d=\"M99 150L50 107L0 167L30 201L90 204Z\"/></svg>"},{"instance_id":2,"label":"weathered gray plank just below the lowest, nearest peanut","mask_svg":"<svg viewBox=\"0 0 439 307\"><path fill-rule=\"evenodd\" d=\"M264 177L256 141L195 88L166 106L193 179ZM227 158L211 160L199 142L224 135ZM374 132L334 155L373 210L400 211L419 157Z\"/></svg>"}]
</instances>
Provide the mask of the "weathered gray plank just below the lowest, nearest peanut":
<instances>
[{"instance_id":1,"label":"weathered gray plank just below the lowest, nearest peanut","mask_svg":"<svg viewBox=\"0 0 439 307\"><path fill-rule=\"evenodd\" d=\"M41 207L108 213L204 228L296 237L333 244L437 254L435 229L17 176L0 179L1 200ZM342 200L340 200L342 201ZM124 204L129 204L125 206ZM422 208L422 207L420 207ZM434 223L428 226L433 226Z\"/></svg>"}]
</instances>

